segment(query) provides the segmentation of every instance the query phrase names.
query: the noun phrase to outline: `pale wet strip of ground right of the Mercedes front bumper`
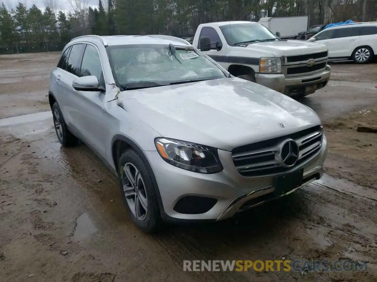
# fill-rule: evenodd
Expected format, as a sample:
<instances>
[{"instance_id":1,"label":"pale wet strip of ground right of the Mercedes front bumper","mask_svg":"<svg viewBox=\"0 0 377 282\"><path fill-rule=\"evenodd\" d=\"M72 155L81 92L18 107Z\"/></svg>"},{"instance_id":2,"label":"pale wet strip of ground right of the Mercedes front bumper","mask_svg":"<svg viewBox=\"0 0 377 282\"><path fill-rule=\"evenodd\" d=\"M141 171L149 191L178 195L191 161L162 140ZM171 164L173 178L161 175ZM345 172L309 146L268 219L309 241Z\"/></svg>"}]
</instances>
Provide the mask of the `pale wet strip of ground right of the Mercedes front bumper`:
<instances>
[{"instance_id":1,"label":"pale wet strip of ground right of the Mercedes front bumper","mask_svg":"<svg viewBox=\"0 0 377 282\"><path fill-rule=\"evenodd\" d=\"M351 195L358 198L367 198L377 201L377 191L368 187L360 186L349 182L344 179L338 179L324 173L322 178L313 181L308 186L314 186L314 188L320 186L322 188L336 190L347 195Z\"/></svg>"}]
</instances>

